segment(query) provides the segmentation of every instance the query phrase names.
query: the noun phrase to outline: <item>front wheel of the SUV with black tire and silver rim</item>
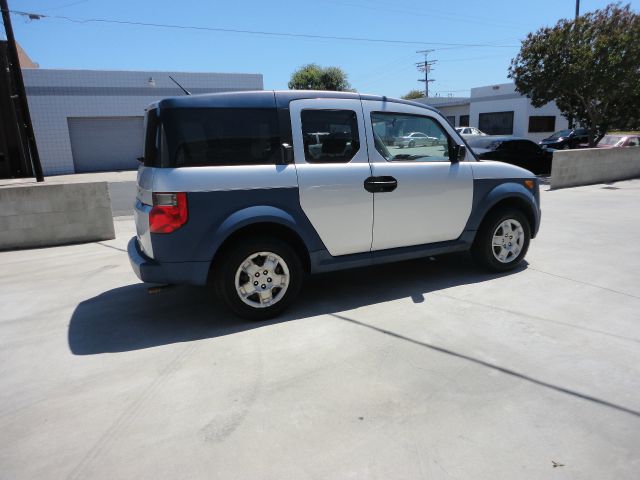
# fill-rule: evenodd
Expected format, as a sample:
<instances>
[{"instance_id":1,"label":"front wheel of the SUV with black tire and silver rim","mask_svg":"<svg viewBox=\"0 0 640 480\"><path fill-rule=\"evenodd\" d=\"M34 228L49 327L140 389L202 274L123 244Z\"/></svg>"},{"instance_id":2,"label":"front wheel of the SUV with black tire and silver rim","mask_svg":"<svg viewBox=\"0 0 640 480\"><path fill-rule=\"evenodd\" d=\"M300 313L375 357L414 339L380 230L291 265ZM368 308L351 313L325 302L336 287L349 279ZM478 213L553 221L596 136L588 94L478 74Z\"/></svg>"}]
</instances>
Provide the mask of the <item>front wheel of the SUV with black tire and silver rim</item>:
<instances>
[{"instance_id":1,"label":"front wheel of the SUV with black tire and silver rim","mask_svg":"<svg viewBox=\"0 0 640 480\"><path fill-rule=\"evenodd\" d=\"M506 272L522 262L530 241L531 226L520 210L498 210L482 222L471 247L471 255L487 270Z\"/></svg>"}]
</instances>

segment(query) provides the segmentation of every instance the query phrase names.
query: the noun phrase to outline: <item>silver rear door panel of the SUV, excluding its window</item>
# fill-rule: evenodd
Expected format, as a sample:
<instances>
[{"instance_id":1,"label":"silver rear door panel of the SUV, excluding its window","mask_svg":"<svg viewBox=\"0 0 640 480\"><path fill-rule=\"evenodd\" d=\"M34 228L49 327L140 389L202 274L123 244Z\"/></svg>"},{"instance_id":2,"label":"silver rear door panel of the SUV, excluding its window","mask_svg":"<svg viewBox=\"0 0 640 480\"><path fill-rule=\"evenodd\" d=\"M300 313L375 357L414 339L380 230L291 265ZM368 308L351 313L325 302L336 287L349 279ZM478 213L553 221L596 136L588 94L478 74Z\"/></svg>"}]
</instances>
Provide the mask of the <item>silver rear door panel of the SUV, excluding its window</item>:
<instances>
[{"instance_id":1,"label":"silver rear door panel of the SUV, excluding its window","mask_svg":"<svg viewBox=\"0 0 640 480\"><path fill-rule=\"evenodd\" d=\"M295 100L289 105L300 205L333 256L371 249L373 195L364 189L371 176L360 100ZM360 150L349 163L307 163L300 114L305 109L354 110Z\"/></svg>"}]
</instances>

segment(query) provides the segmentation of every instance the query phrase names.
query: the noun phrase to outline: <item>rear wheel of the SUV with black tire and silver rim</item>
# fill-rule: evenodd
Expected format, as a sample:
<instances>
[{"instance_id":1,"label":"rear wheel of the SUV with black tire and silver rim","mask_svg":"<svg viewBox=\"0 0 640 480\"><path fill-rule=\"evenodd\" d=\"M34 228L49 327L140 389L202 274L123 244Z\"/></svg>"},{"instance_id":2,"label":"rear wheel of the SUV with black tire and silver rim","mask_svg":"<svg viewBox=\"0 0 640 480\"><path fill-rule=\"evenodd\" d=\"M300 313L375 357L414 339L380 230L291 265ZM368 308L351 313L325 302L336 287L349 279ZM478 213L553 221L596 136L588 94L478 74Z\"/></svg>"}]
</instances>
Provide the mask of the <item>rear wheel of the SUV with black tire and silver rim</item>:
<instances>
[{"instance_id":1,"label":"rear wheel of the SUV with black tire and silver rim","mask_svg":"<svg viewBox=\"0 0 640 480\"><path fill-rule=\"evenodd\" d=\"M282 313L300 292L303 275L296 251L277 238L257 238L232 246L213 273L219 299L247 320L266 320ZM283 286L276 286L278 281Z\"/></svg>"}]
</instances>

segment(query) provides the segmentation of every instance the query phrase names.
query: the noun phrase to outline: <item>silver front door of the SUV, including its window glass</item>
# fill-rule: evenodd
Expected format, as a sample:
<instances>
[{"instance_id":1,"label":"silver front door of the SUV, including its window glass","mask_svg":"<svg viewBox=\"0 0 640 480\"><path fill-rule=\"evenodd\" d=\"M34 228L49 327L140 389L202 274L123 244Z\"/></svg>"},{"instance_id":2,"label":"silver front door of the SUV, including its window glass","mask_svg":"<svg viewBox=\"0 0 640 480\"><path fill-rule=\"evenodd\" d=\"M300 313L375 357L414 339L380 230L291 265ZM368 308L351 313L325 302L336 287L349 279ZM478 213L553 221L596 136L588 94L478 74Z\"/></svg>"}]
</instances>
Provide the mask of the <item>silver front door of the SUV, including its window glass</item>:
<instances>
[{"instance_id":1,"label":"silver front door of the SUV, including its window glass","mask_svg":"<svg viewBox=\"0 0 640 480\"><path fill-rule=\"evenodd\" d=\"M372 176L397 182L394 190L373 195L371 249L457 239L471 213L473 172L470 162L449 161L450 138L457 138L453 128L412 105L365 100L362 107ZM438 143L400 150L381 141L410 131L436 137Z\"/></svg>"}]
</instances>

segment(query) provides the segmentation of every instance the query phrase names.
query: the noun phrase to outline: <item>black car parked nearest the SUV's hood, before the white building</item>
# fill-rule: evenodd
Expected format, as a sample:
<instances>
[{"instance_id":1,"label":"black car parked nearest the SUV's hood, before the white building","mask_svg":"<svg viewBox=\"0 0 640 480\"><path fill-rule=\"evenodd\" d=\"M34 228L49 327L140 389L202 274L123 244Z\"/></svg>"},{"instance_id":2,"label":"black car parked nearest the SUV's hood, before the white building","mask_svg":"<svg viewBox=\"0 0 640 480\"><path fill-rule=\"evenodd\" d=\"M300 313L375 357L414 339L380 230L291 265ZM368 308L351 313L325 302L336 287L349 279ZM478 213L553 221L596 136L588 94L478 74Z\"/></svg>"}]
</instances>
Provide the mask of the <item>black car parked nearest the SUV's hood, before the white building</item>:
<instances>
[{"instance_id":1,"label":"black car parked nearest the SUV's hood, before the white building","mask_svg":"<svg viewBox=\"0 0 640 480\"><path fill-rule=\"evenodd\" d=\"M552 152L526 138L486 136L467 139L480 160L497 160L526 168L536 175L551 173Z\"/></svg>"}]
</instances>

